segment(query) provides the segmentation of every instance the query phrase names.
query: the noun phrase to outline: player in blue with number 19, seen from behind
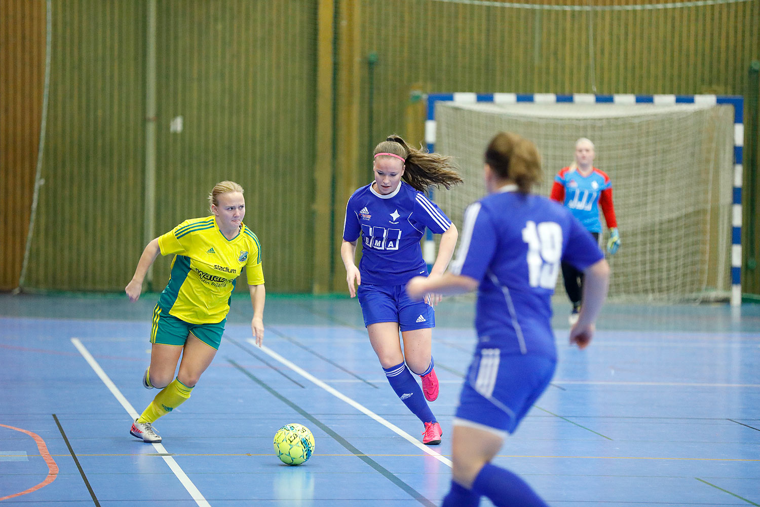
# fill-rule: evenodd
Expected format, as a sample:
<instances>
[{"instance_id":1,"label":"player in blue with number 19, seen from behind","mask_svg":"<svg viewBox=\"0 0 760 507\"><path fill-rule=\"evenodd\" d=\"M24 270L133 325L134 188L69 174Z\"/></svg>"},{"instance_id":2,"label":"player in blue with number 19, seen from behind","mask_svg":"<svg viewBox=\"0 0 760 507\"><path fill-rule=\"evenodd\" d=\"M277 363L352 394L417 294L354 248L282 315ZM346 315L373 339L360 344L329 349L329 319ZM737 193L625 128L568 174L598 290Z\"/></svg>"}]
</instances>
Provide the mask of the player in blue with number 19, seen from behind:
<instances>
[{"instance_id":1,"label":"player in blue with number 19, seen from behind","mask_svg":"<svg viewBox=\"0 0 760 507\"><path fill-rule=\"evenodd\" d=\"M530 406L549 385L556 366L551 297L560 263L586 275L584 304L570 330L584 348L594 334L610 268L594 238L561 204L531 195L540 158L530 141L508 132L485 154L489 195L464 213L457 260L442 277L415 277L407 293L478 290L477 346L461 391L451 439L451 489L444 507L546 505L520 477L491 461Z\"/></svg>"}]
</instances>

